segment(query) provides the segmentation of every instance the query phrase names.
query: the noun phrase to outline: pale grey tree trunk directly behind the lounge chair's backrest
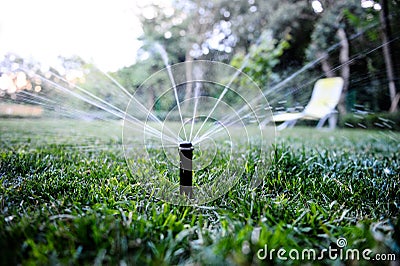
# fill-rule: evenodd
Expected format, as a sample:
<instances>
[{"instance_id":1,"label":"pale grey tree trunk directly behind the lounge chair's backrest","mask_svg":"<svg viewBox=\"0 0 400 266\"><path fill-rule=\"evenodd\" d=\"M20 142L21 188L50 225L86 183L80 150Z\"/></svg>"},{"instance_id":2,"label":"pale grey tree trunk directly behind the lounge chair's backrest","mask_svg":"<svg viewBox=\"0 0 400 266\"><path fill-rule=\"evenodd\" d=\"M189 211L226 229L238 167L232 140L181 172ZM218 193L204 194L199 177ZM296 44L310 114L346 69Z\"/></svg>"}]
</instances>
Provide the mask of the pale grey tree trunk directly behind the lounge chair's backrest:
<instances>
[{"instance_id":1,"label":"pale grey tree trunk directly behind the lounge chair's backrest","mask_svg":"<svg viewBox=\"0 0 400 266\"><path fill-rule=\"evenodd\" d=\"M343 90L342 90L342 95L340 95L340 100L338 104L338 110L340 114L346 114L346 95L347 95L347 90L349 87L349 79L350 79L350 65L349 65L349 53L350 53L350 48L349 48L349 40L347 39L346 32L343 28L339 28L337 31L337 36L339 37L340 40L340 54L339 54L339 61L340 61L340 73L343 78Z\"/></svg>"}]
</instances>

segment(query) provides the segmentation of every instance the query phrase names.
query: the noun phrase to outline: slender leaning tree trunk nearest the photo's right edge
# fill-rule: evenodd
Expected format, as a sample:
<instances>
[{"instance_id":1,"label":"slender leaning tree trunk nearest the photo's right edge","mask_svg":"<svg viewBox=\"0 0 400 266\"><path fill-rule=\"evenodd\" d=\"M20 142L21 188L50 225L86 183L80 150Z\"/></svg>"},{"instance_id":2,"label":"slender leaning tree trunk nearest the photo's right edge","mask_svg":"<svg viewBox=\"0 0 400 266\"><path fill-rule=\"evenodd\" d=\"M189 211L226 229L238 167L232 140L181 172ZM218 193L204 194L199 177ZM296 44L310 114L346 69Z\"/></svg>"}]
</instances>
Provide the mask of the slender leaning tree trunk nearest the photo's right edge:
<instances>
[{"instance_id":1,"label":"slender leaning tree trunk nearest the photo's right edge","mask_svg":"<svg viewBox=\"0 0 400 266\"><path fill-rule=\"evenodd\" d=\"M379 19L381 22L381 28L382 28L382 43L383 43L383 57L385 59L385 65L386 65L386 75L389 81L389 94L390 94L390 101L391 101L391 107L389 112L396 112L398 110L397 104L398 100L396 103L396 85L394 83L394 71L393 71L393 63L392 63L392 57L390 55L390 46L389 46L389 41L391 40L390 38L390 27L389 27L389 17L388 17L388 3L387 0L381 0L380 4L382 6L382 10L379 13Z\"/></svg>"}]
</instances>

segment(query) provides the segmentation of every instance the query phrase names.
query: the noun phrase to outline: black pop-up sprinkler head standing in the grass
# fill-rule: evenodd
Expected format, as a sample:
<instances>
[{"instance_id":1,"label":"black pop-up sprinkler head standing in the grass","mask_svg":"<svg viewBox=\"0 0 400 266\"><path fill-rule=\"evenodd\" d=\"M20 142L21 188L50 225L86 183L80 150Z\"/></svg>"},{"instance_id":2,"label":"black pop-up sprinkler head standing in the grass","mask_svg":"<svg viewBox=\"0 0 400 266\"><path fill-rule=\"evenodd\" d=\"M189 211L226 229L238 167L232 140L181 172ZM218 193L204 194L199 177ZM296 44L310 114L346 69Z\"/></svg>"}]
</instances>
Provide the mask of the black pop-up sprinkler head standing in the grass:
<instances>
[{"instance_id":1,"label":"black pop-up sprinkler head standing in the grass","mask_svg":"<svg viewBox=\"0 0 400 266\"><path fill-rule=\"evenodd\" d=\"M187 195L189 198L193 196L192 192L192 175L193 175L193 145L190 142L182 142L179 144L180 171L179 183L181 195Z\"/></svg>"}]
</instances>

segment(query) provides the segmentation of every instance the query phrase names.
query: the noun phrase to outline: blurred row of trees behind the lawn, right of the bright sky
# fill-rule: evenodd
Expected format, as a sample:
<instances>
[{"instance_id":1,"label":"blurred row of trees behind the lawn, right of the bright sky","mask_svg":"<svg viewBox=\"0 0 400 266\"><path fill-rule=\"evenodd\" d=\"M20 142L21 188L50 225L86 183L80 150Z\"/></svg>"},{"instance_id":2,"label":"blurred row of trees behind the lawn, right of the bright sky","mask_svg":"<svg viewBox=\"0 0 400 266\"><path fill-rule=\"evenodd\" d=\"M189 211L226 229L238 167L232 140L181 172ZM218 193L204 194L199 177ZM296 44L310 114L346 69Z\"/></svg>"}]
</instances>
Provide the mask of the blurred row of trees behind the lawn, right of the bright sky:
<instances>
[{"instance_id":1,"label":"blurred row of trees behind the lawn, right of the bright sky","mask_svg":"<svg viewBox=\"0 0 400 266\"><path fill-rule=\"evenodd\" d=\"M173 12L155 4L142 6L152 10L152 15L141 17L142 60L118 74L134 89L163 68L152 48L155 42L165 47L170 64L211 59L239 66L244 55L254 53L244 71L263 90L315 61L296 82L304 83L313 75L342 76L341 113L355 105L396 111L400 5L394 0L362 2L176 0ZM287 86L291 91L295 85ZM186 97L190 95L191 88Z\"/></svg>"}]
</instances>

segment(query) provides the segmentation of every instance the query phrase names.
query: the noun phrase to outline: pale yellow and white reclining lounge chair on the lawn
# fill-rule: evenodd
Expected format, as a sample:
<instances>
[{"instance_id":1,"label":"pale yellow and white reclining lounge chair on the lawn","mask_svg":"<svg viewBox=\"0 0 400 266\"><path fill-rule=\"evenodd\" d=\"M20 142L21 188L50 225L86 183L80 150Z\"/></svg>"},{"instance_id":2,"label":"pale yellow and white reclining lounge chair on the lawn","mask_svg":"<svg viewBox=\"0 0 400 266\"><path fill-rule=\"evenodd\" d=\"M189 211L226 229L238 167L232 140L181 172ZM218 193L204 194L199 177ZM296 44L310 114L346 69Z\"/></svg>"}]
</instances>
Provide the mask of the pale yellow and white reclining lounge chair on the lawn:
<instances>
[{"instance_id":1,"label":"pale yellow and white reclining lounge chair on the lawn","mask_svg":"<svg viewBox=\"0 0 400 266\"><path fill-rule=\"evenodd\" d=\"M337 123L335 108L342 94L343 83L341 77L319 79L314 85L310 102L302 112L273 115L274 122L283 122L277 129L293 127L299 119L319 120L317 128L322 128L329 119L329 128L335 128Z\"/></svg>"}]
</instances>

